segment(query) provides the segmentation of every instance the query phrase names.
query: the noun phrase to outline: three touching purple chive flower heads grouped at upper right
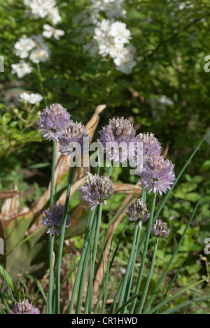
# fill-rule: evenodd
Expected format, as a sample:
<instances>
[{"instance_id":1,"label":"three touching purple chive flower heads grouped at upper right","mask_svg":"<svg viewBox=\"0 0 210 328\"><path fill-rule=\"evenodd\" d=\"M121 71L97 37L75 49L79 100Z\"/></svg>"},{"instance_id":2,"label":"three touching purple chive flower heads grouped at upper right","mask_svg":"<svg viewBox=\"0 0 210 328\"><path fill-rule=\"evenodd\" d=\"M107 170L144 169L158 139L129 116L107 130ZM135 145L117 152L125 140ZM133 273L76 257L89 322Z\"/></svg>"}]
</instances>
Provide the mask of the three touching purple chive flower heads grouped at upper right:
<instances>
[{"instance_id":1,"label":"three touching purple chive flower heads grouped at upper right","mask_svg":"<svg viewBox=\"0 0 210 328\"><path fill-rule=\"evenodd\" d=\"M174 184L174 164L161 156L162 147L153 133L140 133L130 121L125 118L113 118L101 131L97 141L102 144L107 157L113 163L124 163L132 160L139 164L143 161L140 175L140 185L148 193L167 193ZM138 144L142 145L142 153L139 153ZM124 151L127 149L127 151ZM134 160L135 159L135 160Z\"/></svg>"}]
</instances>

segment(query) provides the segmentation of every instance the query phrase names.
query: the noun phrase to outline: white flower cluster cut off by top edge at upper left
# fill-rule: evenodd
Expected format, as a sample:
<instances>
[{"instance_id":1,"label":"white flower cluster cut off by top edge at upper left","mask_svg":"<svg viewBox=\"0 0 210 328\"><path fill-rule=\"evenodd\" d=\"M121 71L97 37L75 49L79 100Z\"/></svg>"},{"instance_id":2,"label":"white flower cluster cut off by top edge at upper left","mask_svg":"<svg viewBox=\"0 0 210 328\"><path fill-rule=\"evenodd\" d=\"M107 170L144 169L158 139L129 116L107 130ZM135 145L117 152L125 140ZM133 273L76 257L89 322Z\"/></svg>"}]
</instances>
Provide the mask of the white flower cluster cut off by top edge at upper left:
<instances>
[{"instance_id":1,"label":"white flower cluster cut off by top edge at upper left","mask_svg":"<svg viewBox=\"0 0 210 328\"><path fill-rule=\"evenodd\" d=\"M24 4L29 7L27 15L32 15L35 19L46 18L52 20L53 24L61 21L55 0L24 0Z\"/></svg>"}]
</instances>

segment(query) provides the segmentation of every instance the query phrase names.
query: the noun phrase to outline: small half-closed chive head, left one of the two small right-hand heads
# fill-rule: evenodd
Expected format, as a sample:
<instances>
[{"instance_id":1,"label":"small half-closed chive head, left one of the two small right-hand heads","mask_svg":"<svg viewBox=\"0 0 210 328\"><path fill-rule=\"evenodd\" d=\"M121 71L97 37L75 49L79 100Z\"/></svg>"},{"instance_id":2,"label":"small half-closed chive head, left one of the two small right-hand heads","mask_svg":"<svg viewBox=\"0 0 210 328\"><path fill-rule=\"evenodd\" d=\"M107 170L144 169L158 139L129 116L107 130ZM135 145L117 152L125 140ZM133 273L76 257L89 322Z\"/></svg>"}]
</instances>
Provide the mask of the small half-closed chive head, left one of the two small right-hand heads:
<instances>
[{"instance_id":1,"label":"small half-closed chive head, left one of the two small right-hand heads","mask_svg":"<svg viewBox=\"0 0 210 328\"><path fill-rule=\"evenodd\" d=\"M135 199L130 207L128 207L128 210L125 212L125 214L127 215L128 219L133 222L132 226L136 223L141 226L141 223L146 222L151 216L143 199Z\"/></svg>"}]
</instances>

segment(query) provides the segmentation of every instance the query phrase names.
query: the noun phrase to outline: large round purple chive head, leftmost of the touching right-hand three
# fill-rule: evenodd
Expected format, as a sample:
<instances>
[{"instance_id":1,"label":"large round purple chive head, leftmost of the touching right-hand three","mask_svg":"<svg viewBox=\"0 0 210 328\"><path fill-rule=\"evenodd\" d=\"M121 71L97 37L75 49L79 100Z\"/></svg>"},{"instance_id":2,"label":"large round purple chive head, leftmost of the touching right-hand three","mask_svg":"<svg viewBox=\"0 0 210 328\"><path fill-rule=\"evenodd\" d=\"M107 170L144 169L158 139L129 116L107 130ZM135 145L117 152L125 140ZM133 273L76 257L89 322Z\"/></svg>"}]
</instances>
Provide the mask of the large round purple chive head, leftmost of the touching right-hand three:
<instances>
[{"instance_id":1,"label":"large round purple chive head, leftmost of the touching right-hand three","mask_svg":"<svg viewBox=\"0 0 210 328\"><path fill-rule=\"evenodd\" d=\"M136 130L124 117L109 120L99 135L97 142L102 144L107 158L114 163L124 163L134 152Z\"/></svg>"}]
</instances>

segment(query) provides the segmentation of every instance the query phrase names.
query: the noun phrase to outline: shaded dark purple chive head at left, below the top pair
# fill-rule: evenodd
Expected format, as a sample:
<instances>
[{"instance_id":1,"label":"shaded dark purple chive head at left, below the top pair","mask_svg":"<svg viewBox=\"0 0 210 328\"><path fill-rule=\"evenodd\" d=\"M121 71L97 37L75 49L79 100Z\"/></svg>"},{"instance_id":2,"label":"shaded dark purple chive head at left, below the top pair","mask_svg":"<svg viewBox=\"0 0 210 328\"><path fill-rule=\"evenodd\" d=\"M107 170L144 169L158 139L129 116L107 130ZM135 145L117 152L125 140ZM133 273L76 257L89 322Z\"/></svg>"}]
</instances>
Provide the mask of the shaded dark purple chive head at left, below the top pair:
<instances>
[{"instance_id":1,"label":"shaded dark purple chive head at left, below the top pair","mask_svg":"<svg viewBox=\"0 0 210 328\"><path fill-rule=\"evenodd\" d=\"M59 235L62 231L62 222L64 217L64 206L59 203L59 205L52 204L48 210L44 211L44 217L42 217L43 226L47 226L47 233L50 235ZM66 228L69 227L71 223L71 218L67 215Z\"/></svg>"}]
</instances>

